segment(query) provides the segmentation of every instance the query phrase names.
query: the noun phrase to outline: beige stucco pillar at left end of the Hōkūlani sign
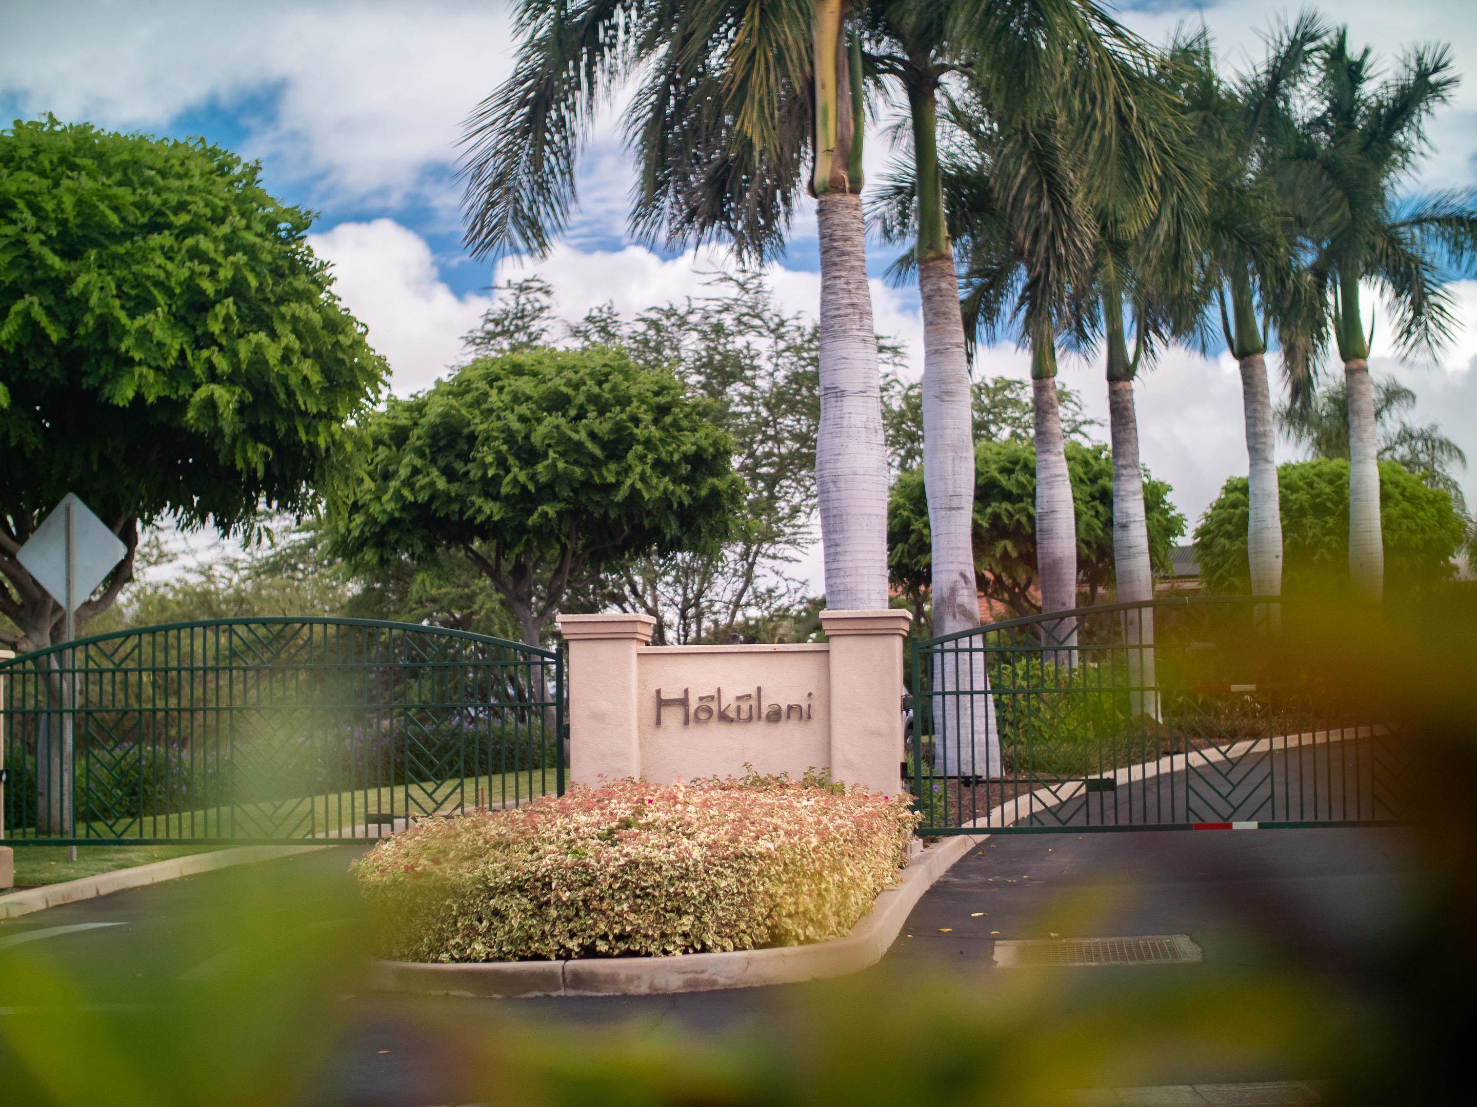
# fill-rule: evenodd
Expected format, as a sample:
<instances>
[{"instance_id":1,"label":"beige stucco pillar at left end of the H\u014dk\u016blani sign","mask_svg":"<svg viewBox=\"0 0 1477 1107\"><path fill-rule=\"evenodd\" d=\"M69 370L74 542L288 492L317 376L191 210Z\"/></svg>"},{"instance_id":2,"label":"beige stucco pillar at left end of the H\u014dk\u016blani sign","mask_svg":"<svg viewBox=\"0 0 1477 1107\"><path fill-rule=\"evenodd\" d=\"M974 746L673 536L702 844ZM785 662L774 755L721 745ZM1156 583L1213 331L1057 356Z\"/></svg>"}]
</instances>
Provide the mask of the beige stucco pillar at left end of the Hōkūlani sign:
<instances>
[{"instance_id":1,"label":"beige stucco pillar at left end of the H\u014dk\u016blani sign","mask_svg":"<svg viewBox=\"0 0 1477 1107\"><path fill-rule=\"evenodd\" d=\"M569 778L641 775L637 649L651 641L651 615L560 615L569 644Z\"/></svg>"}]
</instances>

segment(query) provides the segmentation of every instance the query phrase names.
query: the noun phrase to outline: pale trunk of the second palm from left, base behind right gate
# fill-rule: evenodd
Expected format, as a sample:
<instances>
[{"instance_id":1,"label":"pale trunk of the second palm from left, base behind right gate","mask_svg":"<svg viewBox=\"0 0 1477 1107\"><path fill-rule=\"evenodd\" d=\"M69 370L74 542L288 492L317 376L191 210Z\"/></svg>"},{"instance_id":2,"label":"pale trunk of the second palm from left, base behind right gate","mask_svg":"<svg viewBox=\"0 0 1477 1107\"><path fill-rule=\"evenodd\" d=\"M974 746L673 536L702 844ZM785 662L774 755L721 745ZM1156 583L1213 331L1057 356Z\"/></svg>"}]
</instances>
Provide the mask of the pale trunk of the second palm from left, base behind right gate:
<instances>
[{"instance_id":1,"label":"pale trunk of the second palm from left, base behind right gate","mask_svg":"<svg viewBox=\"0 0 1477 1107\"><path fill-rule=\"evenodd\" d=\"M923 486L932 534L933 633L979 626L975 582L975 432L964 323L950 254L919 263L923 307ZM935 654L933 768L941 775L1000 775L1000 738L982 641Z\"/></svg>"}]
</instances>

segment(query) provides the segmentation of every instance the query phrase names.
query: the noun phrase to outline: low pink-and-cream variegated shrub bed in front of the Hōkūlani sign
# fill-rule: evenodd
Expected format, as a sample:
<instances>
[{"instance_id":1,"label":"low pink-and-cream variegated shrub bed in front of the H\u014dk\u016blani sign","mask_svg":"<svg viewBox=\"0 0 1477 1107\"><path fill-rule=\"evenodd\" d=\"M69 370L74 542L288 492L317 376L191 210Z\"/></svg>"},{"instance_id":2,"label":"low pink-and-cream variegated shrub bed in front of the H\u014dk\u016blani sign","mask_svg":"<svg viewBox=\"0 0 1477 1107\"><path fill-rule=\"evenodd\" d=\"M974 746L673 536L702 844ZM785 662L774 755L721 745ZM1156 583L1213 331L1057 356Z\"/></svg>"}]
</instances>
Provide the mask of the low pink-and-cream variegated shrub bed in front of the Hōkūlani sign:
<instances>
[{"instance_id":1,"label":"low pink-and-cream variegated shrub bed in front of the H\u014dk\u016blani sign","mask_svg":"<svg viewBox=\"0 0 1477 1107\"><path fill-rule=\"evenodd\" d=\"M572 788L434 818L356 862L399 961L653 956L846 934L917 815L806 775Z\"/></svg>"}]
</instances>

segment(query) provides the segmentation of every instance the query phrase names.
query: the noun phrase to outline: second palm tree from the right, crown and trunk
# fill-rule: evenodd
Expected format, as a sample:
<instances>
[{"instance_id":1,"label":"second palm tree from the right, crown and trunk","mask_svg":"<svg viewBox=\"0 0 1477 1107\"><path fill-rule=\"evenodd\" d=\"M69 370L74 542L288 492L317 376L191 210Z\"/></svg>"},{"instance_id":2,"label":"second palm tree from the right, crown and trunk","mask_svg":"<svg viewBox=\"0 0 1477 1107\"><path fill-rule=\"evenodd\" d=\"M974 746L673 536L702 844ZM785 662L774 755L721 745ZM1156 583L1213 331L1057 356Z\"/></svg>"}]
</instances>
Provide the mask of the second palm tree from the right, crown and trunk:
<instances>
[{"instance_id":1,"label":"second palm tree from the right, crown and trunk","mask_svg":"<svg viewBox=\"0 0 1477 1107\"><path fill-rule=\"evenodd\" d=\"M1278 493L1276 427L1267 382L1269 322L1294 320L1292 335L1317 329L1316 292L1292 257L1289 214L1279 204L1263 148L1285 125L1309 69L1312 50L1326 34L1304 13L1279 28L1261 65L1227 83L1217 71L1205 31L1173 43L1165 69L1195 125L1205 161L1208 202L1201 246L1201 292L1219 316L1220 337L1241 369L1242 415L1250 472L1247 552L1251 590L1282 595L1282 514Z\"/></svg>"}]
</instances>

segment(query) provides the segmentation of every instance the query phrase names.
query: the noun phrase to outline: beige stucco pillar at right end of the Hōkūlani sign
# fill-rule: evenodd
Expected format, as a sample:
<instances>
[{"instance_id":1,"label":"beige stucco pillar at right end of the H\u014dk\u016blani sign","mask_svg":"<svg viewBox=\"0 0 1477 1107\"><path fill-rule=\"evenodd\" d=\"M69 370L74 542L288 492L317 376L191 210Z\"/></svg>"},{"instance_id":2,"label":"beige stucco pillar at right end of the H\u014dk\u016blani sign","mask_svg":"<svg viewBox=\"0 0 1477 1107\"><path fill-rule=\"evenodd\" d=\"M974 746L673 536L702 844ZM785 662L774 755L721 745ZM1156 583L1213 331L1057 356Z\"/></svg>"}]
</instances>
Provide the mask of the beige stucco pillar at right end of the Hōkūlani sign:
<instances>
[{"instance_id":1,"label":"beige stucco pillar at right end of the H\u014dk\u016blani sign","mask_svg":"<svg viewBox=\"0 0 1477 1107\"><path fill-rule=\"evenodd\" d=\"M902 644L913 615L821 611L830 639L832 776L885 796L902 787Z\"/></svg>"}]
</instances>

